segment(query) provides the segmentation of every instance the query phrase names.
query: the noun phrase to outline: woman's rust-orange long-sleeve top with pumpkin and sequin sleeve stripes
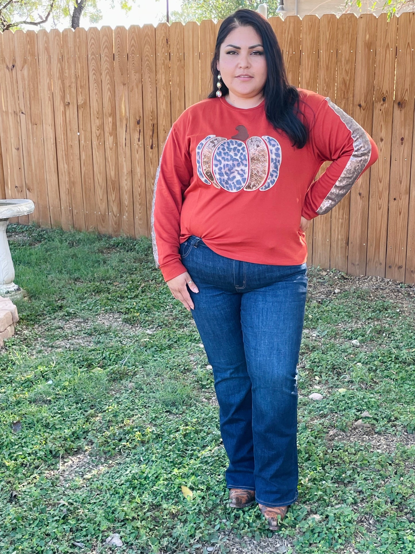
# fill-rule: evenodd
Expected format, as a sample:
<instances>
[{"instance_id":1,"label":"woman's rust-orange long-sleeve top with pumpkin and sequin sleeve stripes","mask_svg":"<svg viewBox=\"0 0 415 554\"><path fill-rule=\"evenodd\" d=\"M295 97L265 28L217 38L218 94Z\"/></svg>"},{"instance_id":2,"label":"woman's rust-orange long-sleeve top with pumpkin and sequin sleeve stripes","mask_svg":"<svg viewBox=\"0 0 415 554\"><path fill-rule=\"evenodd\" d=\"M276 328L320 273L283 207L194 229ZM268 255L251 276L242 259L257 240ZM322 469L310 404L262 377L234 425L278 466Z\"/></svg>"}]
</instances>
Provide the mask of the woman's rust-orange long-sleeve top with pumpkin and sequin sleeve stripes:
<instances>
[{"instance_id":1,"label":"woman's rust-orange long-sleeve top with pumpkin and sequin sleeve stripes","mask_svg":"<svg viewBox=\"0 0 415 554\"><path fill-rule=\"evenodd\" d=\"M186 271L179 245L201 237L217 254L257 264L307 260L300 219L329 212L378 158L372 138L343 110L298 89L310 130L292 146L268 122L264 100L202 100L174 122L154 183L152 239L165 281ZM314 181L324 161L332 163Z\"/></svg>"}]
</instances>

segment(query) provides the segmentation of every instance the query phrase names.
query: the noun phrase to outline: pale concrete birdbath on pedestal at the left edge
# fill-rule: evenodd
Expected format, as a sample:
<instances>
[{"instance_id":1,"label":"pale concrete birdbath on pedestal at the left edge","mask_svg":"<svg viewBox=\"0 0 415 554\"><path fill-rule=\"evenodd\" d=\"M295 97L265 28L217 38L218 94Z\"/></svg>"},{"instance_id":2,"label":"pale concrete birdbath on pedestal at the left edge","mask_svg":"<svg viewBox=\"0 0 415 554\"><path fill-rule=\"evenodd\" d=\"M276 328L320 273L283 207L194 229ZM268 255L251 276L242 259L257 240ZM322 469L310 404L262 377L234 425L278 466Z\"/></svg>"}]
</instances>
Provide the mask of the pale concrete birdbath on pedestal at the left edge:
<instances>
[{"instance_id":1,"label":"pale concrete birdbath on pedestal at the left edge","mask_svg":"<svg viewBox=\"0 0 415 554\"><path fill-rule=\"evenodd\" d=\"M13 283L14 265L6 234L9 218L26 216L33 211L31 200L0 200L0 296L15 296L20 291L20 287Z\"/></svg>"}]
</instances>

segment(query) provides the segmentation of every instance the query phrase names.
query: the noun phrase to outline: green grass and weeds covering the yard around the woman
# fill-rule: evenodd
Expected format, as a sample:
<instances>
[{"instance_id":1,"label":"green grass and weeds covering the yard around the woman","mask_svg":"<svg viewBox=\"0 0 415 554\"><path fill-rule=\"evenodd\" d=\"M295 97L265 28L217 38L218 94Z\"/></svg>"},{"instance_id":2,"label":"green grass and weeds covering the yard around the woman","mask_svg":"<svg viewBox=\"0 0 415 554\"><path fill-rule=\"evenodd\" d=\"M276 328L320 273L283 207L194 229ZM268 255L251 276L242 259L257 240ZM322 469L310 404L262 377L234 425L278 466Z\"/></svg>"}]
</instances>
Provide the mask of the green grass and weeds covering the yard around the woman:
<instances>
[{"instance_id":1,"label":"green grass and weeds covering the yard around the woman","mask_svg":"<svg viewBox=\"0 0 415 554\"><path fill-rule=\"evenodd\" d=\"M226 506L219 409L202 401L214 396L211 371L191 315L154 267L151 242L9 231L28 298L17 302L17 333L0 352L0 552L107 552L112 532L124 543L117 552L131 553L217 543L227 552L229 533L271 537L256 505ZM414 321L369 289L313 297L342 275L309 269L299 500L280 533L297 554L350 544L412 554ZM310 401L317 391L324 399ZM365 410L371 428L357 430Z\"/></svg>"}]
</instances>

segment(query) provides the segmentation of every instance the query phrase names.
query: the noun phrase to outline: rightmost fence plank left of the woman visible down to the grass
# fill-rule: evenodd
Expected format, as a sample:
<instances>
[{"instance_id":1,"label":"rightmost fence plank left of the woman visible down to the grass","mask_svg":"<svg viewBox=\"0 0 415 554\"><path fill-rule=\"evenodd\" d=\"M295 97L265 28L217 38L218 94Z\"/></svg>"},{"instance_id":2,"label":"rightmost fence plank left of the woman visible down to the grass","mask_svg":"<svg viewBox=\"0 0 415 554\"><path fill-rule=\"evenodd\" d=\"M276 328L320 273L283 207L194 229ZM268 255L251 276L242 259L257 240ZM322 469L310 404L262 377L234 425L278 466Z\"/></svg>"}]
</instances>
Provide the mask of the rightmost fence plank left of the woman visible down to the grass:
<instances>
[{"instance_id":1,"label":"rightmost fence plank left of the woman visible down to the grass","mask_svg":"<svg viewBox=\"0 0 415 554\"><path fill-rule=\"evenodd\" d=\"M136 238L147 235L148 230L140 32L138 25L131 25L128 29L129 126Z\"/></svg>"}]
</instances>

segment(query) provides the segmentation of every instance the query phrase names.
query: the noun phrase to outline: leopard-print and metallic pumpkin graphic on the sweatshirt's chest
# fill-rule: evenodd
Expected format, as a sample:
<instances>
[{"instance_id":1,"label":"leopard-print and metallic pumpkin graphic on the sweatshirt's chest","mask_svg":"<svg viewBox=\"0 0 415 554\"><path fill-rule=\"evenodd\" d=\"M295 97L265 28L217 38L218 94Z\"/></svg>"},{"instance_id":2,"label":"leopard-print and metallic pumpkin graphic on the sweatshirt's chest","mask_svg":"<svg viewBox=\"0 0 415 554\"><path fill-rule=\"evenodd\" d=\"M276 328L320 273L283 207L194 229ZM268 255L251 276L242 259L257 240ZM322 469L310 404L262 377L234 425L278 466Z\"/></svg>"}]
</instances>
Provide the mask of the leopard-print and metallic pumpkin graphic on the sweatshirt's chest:
<instances>
[{"instance_id":1,"label":"leopard-print and metallic pumpkin graphic on the sweatshirt's chest","mask_svg":"<svg viewBox=\"0 0 415 554\"><path fill-rule=\"evenodd\" d=\"M196 147L198 176L229 192L267 191L277 182L281 147L270 136L250 137L238 125L232 139L208 135Z\"/></svg>"}]
</instances>

